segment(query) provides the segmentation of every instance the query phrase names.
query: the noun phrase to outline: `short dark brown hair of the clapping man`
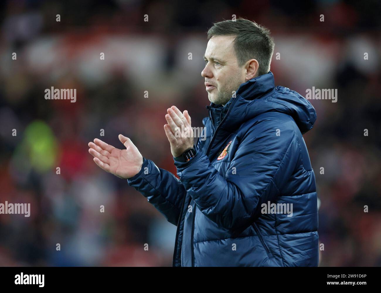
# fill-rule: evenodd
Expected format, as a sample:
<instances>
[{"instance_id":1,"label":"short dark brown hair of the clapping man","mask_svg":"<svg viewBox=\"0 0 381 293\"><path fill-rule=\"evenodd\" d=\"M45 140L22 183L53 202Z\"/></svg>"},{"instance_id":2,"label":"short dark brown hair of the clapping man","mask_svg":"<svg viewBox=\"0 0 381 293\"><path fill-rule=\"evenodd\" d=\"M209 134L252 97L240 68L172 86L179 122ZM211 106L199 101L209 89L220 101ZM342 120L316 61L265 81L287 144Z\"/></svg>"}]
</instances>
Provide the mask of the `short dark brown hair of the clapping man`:
<instances>
[{"instance_id":1,"label":"short dark brown hair of the clapping man","mask_svg":"<svg viewBox=\"0 0 381 293\"><path fill-rule=\"evenodd\" d=\"M248 19L229 19L213 24L208 30L208 40L218 35L235 35L234 50L239 66L256 59L259 63L258 75L270 71L275 43L269 29Z\"/></svg>"}]
</instances>

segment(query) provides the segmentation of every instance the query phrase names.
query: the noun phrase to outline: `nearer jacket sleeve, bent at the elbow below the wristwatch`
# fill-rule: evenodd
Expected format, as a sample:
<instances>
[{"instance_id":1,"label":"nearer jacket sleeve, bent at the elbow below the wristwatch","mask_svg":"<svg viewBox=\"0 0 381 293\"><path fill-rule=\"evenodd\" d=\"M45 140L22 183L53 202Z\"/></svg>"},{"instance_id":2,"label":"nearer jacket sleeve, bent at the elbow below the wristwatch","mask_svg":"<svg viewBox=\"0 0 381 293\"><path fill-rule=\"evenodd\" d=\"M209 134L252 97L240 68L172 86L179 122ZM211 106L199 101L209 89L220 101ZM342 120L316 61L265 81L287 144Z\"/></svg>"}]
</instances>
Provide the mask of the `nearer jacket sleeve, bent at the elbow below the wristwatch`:
<instances>
[{"instance_id":1,"label":"nearer jacket sleeve, bent at the elbow below the wristwatch","mask_svg":"<svg viewBox=\"0 0 381 293\"><path fill-rule=\"evenodd\" d=\"M261 204L279 195L295 169L299 154L295 122L277 120L262 119L251 126L223 175L202 152L186 163L175 162L197 208L225 229L253 223Z\"/></svg>"}]
</instances>

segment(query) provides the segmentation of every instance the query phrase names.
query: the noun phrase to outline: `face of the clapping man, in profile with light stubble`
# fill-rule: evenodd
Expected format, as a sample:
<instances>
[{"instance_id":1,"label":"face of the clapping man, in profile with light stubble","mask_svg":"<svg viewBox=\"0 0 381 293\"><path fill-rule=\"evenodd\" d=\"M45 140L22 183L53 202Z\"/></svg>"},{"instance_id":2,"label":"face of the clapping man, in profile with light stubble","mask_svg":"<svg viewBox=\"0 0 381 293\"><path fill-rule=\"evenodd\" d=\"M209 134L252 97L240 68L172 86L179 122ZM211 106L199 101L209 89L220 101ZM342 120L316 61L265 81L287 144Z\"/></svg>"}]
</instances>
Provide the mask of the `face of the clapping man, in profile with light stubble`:
<instances>
[{"instance_id":1,"label":"face of the clapping man, in profile with light stubble","mask_svg":"<svg viewBox=\"0 0 381 293\"><path fill-rule=\"evenodd\" d=\"M231 99L232 92L246 81L245 66L238 66L234 38L235 36L211 37L205 51L205 68L201 75L205 77L208 99L216 105L225 105Z\"/></svg>"}]
</instances>

